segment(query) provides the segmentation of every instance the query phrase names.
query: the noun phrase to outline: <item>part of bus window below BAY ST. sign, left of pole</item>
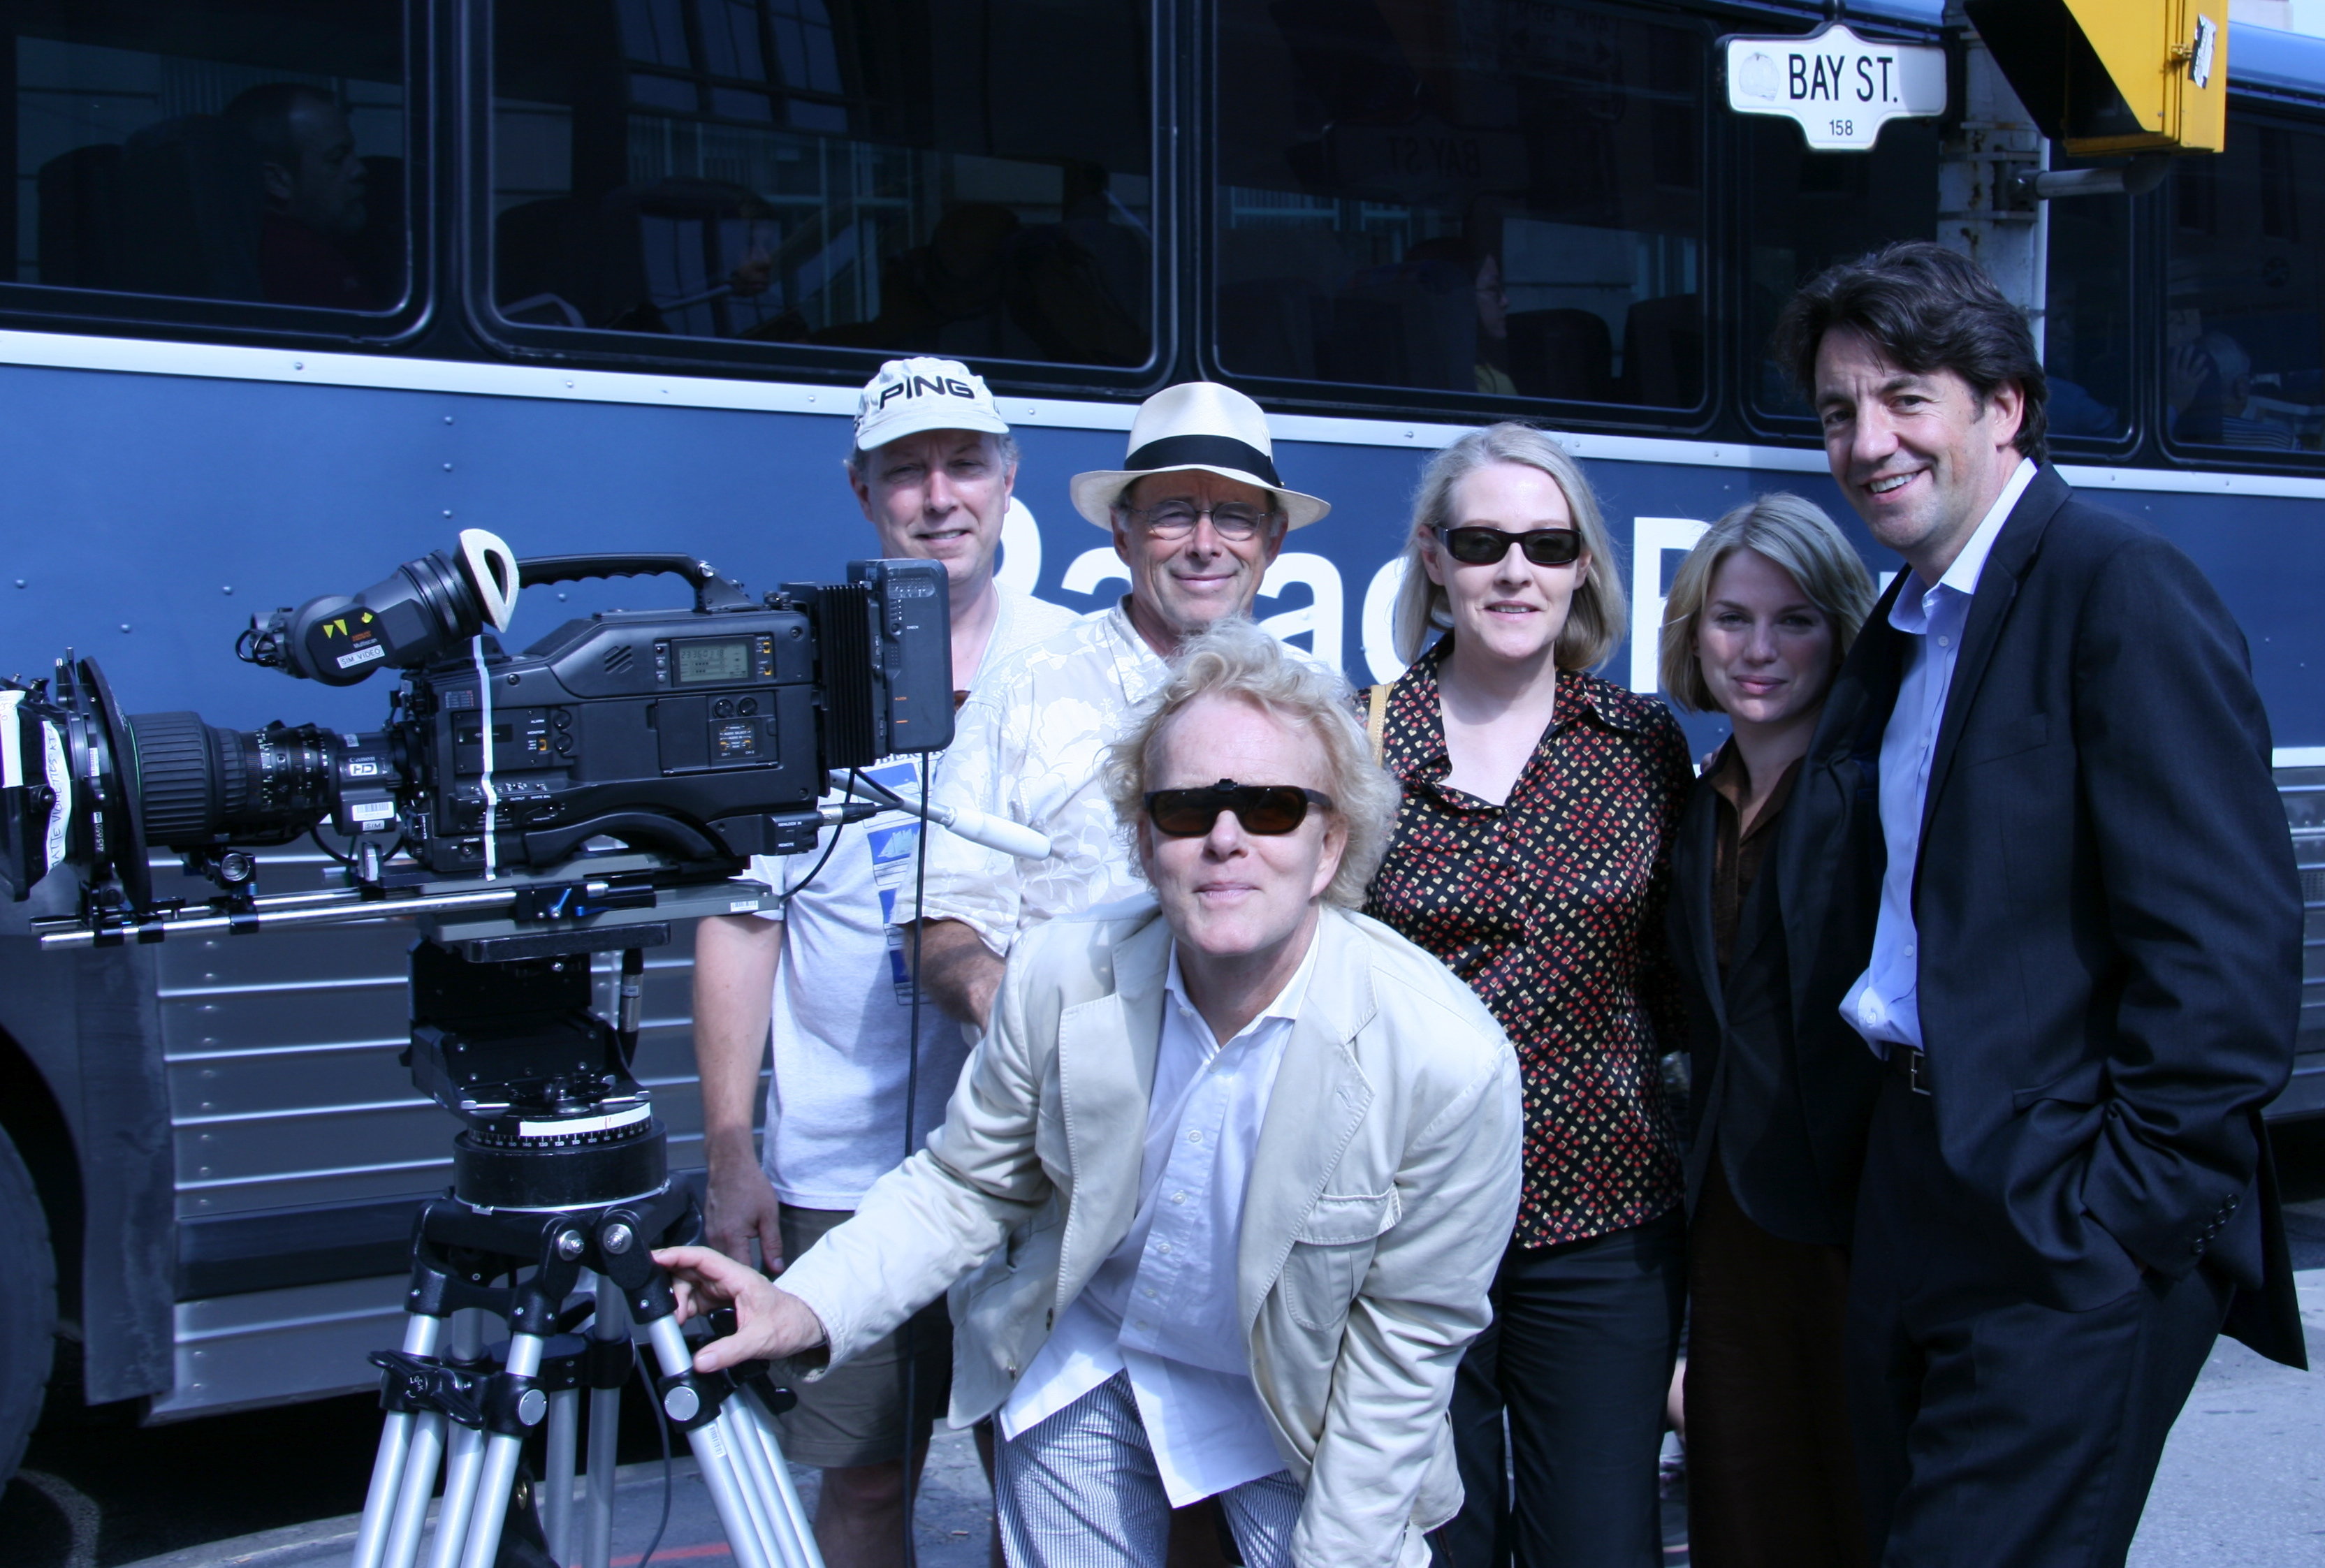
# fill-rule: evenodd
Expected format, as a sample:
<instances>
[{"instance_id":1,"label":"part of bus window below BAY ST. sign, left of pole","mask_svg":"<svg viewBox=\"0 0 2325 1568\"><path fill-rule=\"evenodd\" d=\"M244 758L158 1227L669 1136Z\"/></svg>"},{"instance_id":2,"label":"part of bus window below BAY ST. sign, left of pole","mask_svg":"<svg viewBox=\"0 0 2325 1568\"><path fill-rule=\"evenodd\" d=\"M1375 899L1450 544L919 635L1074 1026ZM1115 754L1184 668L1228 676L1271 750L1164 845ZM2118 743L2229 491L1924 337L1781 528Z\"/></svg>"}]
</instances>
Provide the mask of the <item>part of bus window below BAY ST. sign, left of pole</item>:
<instances>
[{"instance_id":1,"label":"part of bus window below BAY ST. sign, left of pole","mask_svg":"<svg viewBox=\"0 0 2325 1568\"><path fill-rule=\"evenodd\" d=\"M1869 153L1811 153L1790 121L1737 116L1744 163L1744 365L1755 413L1807 420L1769 358L1776 311L1834 262L1937 237L1937 123L1890 121Z\"/></svg>"}]
</instances>

